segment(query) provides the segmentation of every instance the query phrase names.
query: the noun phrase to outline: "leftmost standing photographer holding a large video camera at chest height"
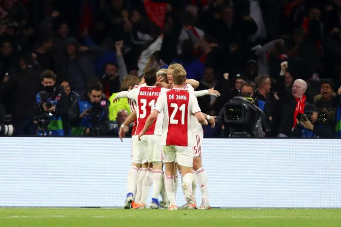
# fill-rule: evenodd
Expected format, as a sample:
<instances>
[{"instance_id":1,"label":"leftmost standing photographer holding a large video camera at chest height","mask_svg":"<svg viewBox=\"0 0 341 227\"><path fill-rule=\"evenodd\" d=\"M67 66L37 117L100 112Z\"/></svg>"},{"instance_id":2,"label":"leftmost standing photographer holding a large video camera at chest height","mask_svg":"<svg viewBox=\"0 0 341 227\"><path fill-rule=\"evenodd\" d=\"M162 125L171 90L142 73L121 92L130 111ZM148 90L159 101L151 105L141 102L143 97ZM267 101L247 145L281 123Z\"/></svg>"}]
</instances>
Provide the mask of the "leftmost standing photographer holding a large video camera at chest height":
<instances>
[{"instance_id":1,"label":"leftmost standing photographer holding a large video camera at chest height","mask_svg":"<svg viewBox=\"0 0 341 227\"><path fill-rule=\"evenodd\" d=\"M40 74L44 89L36 95L35 123L39 136L69 135L68 99L65 91L55 86L56 75L51 70Z\"/></svg>"}]
</instances>

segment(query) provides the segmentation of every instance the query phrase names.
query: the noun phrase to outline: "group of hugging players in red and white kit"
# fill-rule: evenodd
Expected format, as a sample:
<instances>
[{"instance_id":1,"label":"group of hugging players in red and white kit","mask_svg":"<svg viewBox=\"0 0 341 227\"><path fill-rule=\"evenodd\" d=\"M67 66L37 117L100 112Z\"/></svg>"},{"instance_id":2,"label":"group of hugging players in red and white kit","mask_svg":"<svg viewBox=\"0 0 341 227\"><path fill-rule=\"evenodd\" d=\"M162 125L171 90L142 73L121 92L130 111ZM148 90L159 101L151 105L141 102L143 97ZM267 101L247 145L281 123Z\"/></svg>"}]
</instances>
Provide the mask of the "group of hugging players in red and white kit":
<instances>
[{"instance_id":1,"label":"group of hugging players in red and white kit","mask_svg":"<svg viewBox=\"0 0 341 227\"><path fill-rule=\"evenodd\" d=\"M125 126L134 122L126 209L177 210L178 173L186 201L181 208L210 209L207 174L202 167L201 125L209 122L214 127L215 119L201 112L196 97L219 96L220 93L213 88L195 91L199 83L186 79L186 75L178 63L171 63L168 69L159 71L149 68L139 86L119 92L113 101L128 98L132 109L132 114L120 127L121 140ZM146 201L151 185L152 199L148 206ZM197 185L200 185L202 195L198 208Z\"/></svg>"}]
</instances>

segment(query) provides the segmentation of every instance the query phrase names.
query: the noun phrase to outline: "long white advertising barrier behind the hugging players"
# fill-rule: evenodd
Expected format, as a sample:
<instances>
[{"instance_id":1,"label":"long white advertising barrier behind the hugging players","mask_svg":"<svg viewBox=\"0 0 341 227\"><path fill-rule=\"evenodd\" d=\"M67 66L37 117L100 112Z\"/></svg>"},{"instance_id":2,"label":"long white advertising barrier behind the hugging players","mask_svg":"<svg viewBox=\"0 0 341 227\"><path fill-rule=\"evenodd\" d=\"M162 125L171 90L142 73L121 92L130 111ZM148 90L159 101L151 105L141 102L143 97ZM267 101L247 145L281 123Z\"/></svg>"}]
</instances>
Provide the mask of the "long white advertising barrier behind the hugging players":
<instances>
[{"instance_id":1,"label":"long white advertising barrier behind the hugging players","mask_svg":"<svg viewBox=\"0 0 341 227\"><path fill-rule=\"evenodd\" d=\"M0 146L0 207L125 201L130 138L3 137ZM204 139L202 153L212 207L341 208L341 140Z\"/></svg>"}]
</instances>

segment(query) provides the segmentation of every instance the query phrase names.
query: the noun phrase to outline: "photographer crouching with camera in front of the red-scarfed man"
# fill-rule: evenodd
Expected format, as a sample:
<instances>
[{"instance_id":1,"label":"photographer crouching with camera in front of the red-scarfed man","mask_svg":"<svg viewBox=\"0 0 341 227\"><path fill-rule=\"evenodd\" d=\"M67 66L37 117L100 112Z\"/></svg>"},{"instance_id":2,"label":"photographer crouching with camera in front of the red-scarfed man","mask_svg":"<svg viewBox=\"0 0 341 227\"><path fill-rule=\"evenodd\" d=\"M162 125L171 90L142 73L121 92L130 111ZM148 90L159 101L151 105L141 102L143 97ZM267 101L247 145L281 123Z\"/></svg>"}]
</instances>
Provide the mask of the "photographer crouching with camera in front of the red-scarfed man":
<instances>
[{"instance_id":1,"label":"photographer crouching with camera in front of the red-scarfed man","mask_svg":"<svg viewBox=\"0 0 341 227\"><path fill-rule=\"evenodd\" d=\"M304 114L298 114L297 123L291 137L300 138L332 138L333 126L328 122L328 116L325 113L318 114L313 104L304 106Z\"/></svg>"}]
</instances>

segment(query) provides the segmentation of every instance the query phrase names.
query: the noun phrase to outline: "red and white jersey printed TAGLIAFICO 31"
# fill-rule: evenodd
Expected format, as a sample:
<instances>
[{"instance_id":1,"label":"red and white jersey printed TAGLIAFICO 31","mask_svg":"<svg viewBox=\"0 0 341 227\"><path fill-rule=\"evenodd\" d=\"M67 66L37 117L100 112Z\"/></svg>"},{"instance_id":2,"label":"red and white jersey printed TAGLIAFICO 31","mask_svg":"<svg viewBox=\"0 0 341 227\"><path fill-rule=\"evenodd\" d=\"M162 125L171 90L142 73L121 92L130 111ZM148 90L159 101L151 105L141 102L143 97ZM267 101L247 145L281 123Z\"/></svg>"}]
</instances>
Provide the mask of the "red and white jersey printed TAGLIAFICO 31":
<instances>
[{"instance_id":1,"label":"red and white jersey printed TAGLIAFICO 31","mask_svg":"<svg viewBox=\"0 0 341 227\"><path fill-rule=\"evenodd\" d=\"M141 86L127 92L128 98L137 102L137 128L134 135L138 135L142 131L148 116L154 109L160 93L166 90L166 88L156 86ZM162 121L163 114L159 114L145 135L162 135Z\"/></svg>"}]
</instances>

